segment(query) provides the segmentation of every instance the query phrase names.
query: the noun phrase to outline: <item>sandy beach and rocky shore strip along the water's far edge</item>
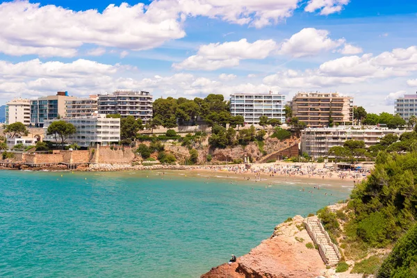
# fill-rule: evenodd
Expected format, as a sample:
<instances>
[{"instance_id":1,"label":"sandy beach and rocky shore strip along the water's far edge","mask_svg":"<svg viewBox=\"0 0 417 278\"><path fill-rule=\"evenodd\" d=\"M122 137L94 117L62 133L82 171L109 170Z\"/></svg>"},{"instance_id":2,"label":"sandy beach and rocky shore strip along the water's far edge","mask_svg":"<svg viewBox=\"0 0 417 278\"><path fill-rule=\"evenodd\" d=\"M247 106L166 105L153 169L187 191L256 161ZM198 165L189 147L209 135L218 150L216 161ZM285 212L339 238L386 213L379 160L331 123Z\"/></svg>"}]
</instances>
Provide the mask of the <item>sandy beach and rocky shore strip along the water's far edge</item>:
<instances>
[{"instance_id":1,"label":"sandy beach and rocky shore strip along the water's far edge","mask_svg":"<svg viewBox=\"0 0 417 278\"><path fill-rule=\"evenodd\" d=\"M261 181L284 181L286 182L303 182L303 183L355 183L366 179L370 170L361 172L351 170L334 170L325 167L325 163L253 163L250 169L245 164L229 165L81 165L76 169L68 169L66 165L28 167L19 165L17 167L0 167L0 170L23 170L33 172L126 172L126 171L189 171L195 174L204 174L207 177L216 174L223 178L233 178L238 180ZM92 166L92 167L91 167Z\"/></svg>"}]
</instances>

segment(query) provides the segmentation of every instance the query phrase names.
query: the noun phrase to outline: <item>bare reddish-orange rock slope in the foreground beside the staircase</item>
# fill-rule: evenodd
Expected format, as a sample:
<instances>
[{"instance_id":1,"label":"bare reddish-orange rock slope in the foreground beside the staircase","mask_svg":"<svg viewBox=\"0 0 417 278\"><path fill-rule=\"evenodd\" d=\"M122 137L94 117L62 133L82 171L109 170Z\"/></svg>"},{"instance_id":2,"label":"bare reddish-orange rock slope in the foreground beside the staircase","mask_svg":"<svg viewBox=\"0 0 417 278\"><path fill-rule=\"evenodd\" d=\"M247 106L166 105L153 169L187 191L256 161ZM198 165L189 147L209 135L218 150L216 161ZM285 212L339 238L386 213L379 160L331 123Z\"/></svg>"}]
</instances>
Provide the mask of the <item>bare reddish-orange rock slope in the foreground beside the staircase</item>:
<instances>
[{"instance_id":1,"label":"bare reddish-orange rock slope in the foreground beside the staircase","mask_svg":"<svg viewBox=\"0 0 417 278\"><path fill-rule=\"evenodd\" d=\"M323 275L326 266L302 224L303 218L279 224L274 234L238 258L236 263L220 265L202 275L202 278L297 278Z\"/></svg>"}]
</instances>

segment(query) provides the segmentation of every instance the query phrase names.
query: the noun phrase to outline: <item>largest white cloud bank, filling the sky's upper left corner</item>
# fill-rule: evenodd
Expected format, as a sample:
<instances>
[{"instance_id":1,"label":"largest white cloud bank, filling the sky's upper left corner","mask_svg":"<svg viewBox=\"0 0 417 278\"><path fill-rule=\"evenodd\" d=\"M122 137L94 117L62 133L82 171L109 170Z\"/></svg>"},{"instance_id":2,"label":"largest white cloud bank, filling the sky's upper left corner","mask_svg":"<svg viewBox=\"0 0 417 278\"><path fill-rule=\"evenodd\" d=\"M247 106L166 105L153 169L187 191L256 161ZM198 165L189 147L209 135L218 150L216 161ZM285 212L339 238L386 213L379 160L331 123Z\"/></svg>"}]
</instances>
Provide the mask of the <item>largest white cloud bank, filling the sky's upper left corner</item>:
<instances>
[{"instance_id":1,"label":"largest white cloud bank, filling the sky's upper left corner","mask_svg":"<svg viewBox=\"0 0 417 278\"><path fill-rule=\"evenodd\" d=\"M158 1L156 1L158 2ZM167 40L183 38L177 10L160 10L151 3L110 5L75 12L54 5L28 1L0 4L0 51L21 56L65 56L76 54L83 44L142 50L158 47ZM13 20L12 20L13 19Z\"/></svg>"}]
</instances>

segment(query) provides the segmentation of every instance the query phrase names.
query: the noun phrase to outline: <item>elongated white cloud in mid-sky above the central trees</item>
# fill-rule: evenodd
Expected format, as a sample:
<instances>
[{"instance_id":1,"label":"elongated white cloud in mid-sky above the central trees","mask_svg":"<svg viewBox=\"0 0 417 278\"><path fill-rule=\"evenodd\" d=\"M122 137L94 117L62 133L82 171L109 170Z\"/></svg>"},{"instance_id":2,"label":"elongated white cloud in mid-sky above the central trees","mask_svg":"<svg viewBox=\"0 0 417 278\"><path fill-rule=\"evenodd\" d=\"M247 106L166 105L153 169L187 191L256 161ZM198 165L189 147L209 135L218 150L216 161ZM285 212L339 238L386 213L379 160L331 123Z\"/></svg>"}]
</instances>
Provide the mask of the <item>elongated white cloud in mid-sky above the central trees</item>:
<instances>
[{"instance_id":1,"label":"elongated white cloud in mid-sky above the central trees","mask_svg":"<svg viewBox=\"0 0 417 278\"><path fill-rule=\"evenodd\" d=\"M274 40L256 40L247 42L212 43L199 47L197 55L190 56L181 63L174 63L177 70L218 70L222 67L234 67L243 59L264 59L277 48Z\"/></svg>"}]
</instances>

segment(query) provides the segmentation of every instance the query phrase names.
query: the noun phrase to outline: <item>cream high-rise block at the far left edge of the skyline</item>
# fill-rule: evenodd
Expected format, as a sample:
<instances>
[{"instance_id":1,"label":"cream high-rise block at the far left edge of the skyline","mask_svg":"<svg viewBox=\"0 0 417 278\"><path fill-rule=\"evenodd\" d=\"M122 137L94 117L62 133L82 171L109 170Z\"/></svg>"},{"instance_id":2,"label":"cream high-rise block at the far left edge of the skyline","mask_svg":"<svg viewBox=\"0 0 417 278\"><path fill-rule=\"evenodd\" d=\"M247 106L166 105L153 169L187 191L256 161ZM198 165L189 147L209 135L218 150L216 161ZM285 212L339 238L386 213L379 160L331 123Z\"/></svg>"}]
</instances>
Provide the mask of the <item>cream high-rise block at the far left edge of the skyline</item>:
<instances>
[{"instance_id":1,"label":"cream high-rise block at the far left edge of the skyline","mask_svg":"<svg viewBox=\"0 0 417 278\"><path fill-rule=\"evenodd\" d=\"M6 124L22 122L25 126L31 124L31 100L13 99L6 104Z\"/></svg>"}]
</instances>

